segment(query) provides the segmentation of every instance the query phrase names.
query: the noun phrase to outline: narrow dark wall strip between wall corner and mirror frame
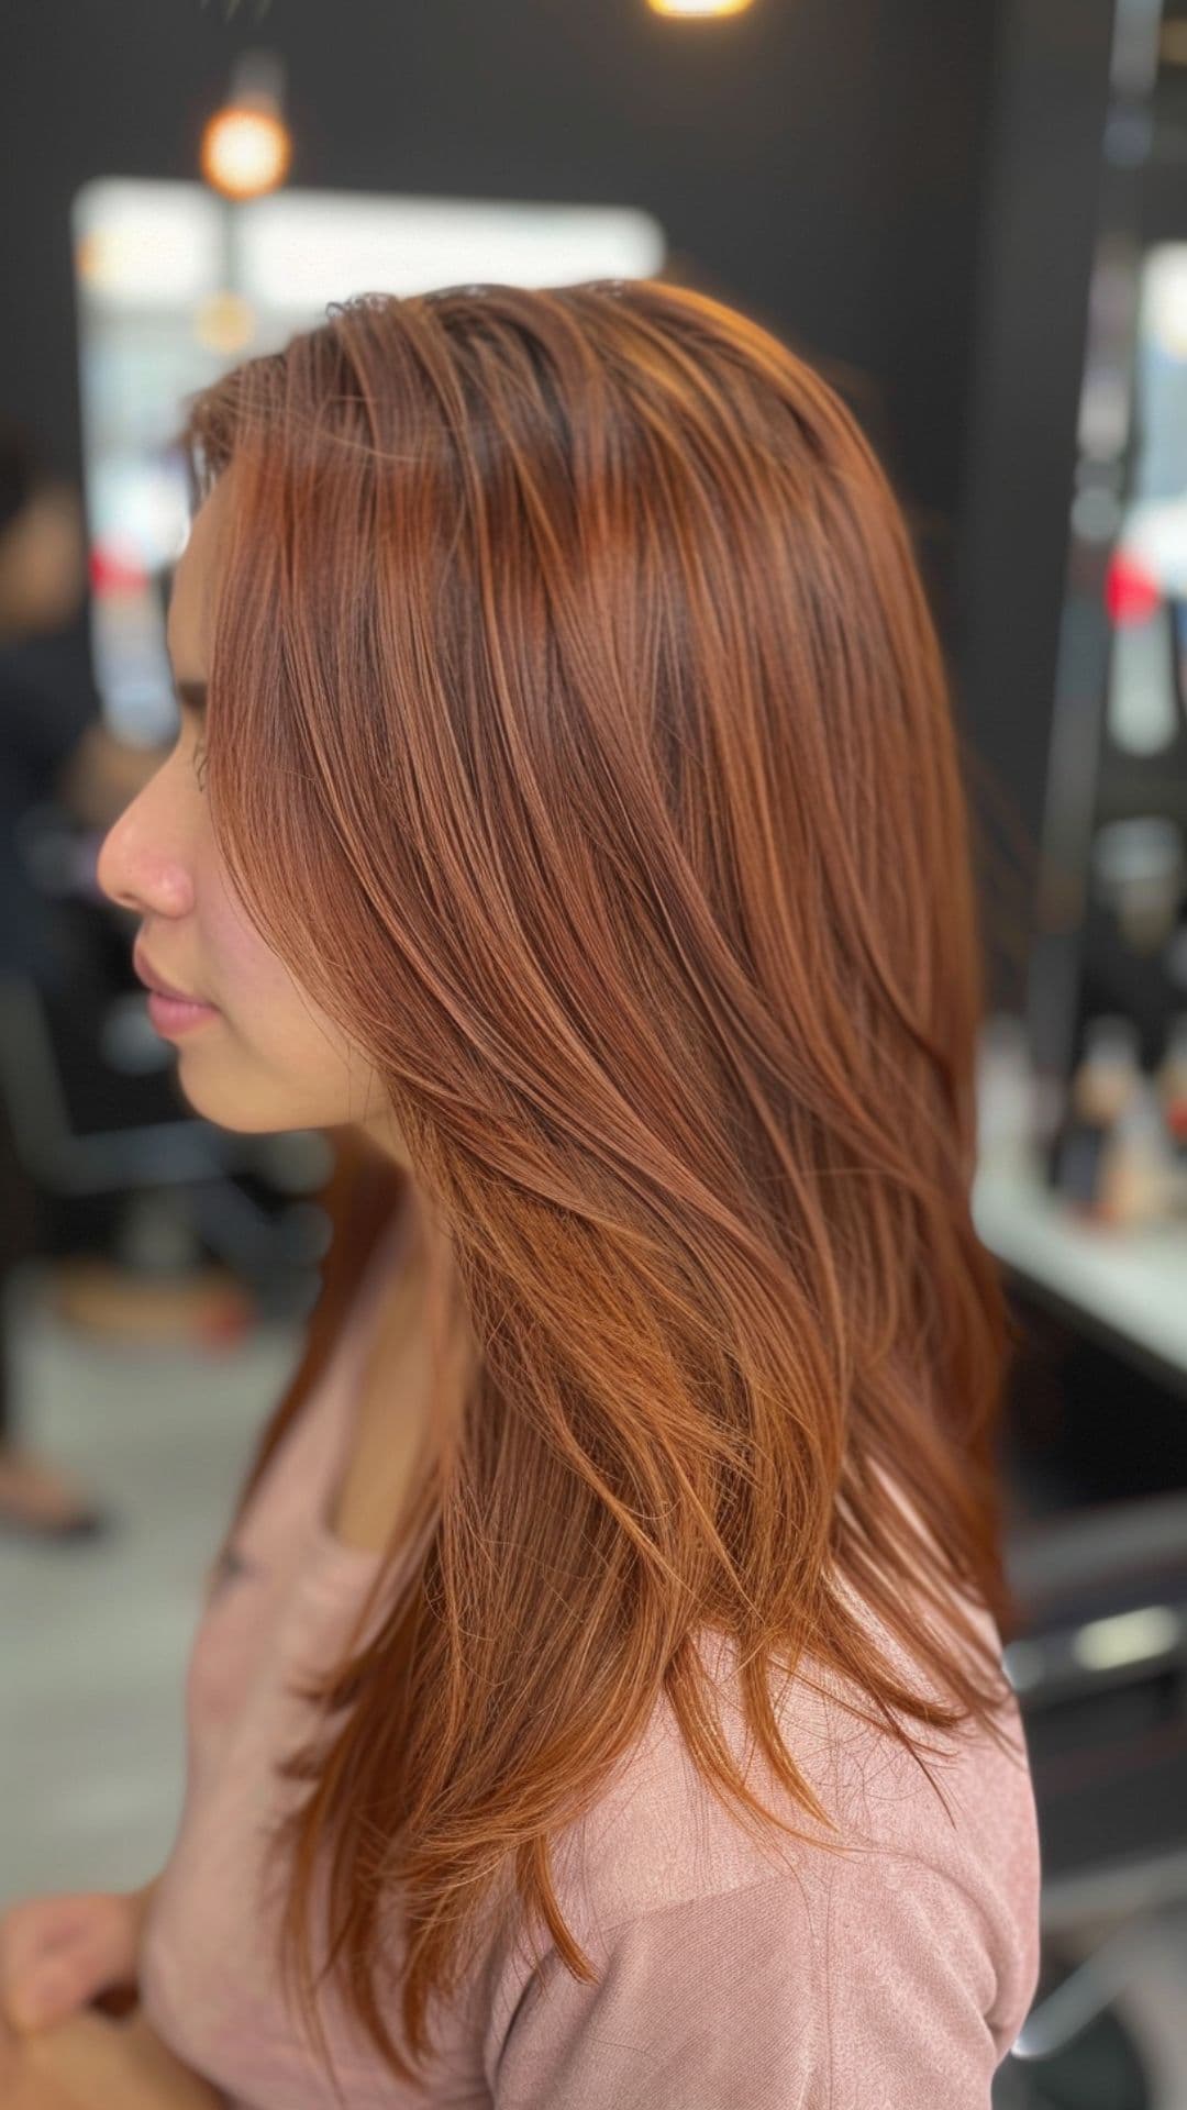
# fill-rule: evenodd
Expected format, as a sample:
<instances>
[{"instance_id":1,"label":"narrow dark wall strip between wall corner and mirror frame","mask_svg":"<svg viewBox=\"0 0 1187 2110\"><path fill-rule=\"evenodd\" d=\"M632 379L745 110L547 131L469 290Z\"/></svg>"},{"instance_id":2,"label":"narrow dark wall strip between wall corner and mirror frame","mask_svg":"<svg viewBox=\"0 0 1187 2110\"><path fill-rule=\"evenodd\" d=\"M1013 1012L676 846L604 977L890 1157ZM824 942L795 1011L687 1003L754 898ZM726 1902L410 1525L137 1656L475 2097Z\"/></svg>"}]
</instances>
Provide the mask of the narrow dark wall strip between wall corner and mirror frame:
<instances>
[{"instance_id":1,"label":"narrow dark wall strip between wall corner and mirror frame","mask_svg":"<svg viewBox=\"0 0 1187 2110\"><path fill-rule=\"evenodd\" d=\"M953 565L963 720L993 768L997 987L1024 1000L1069 557L1113 0L1001 0Z\"/></svg>"}]
</instances>

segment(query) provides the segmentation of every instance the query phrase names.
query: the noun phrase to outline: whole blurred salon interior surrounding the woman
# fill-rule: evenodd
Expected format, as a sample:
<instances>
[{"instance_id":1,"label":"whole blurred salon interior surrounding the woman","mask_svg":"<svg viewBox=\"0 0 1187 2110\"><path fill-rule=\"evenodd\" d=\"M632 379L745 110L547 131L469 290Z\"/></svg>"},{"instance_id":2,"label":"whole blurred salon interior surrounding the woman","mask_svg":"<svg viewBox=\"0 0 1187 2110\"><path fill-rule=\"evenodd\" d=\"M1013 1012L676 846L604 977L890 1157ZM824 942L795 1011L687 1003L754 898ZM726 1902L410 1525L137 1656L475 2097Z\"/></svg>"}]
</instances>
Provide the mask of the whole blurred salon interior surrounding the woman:
<instances>
[{"instance_id":1,"label":"whole blurred salon interior surrounding the woman","mask_svg":"<svg viewBox=\"0 0 1187 2110\"><path fill-rule=\"evenodd\" d=\"M0 135L0 1903L169 1850L327 1234L332 1142L188 1110L95 884L175 736L180 397L351 293L663 274L862 420L969 751L1043 1844L995 2102L1187 2110L1187 0L8 0Z\"/></svg>"}]
</instances>

